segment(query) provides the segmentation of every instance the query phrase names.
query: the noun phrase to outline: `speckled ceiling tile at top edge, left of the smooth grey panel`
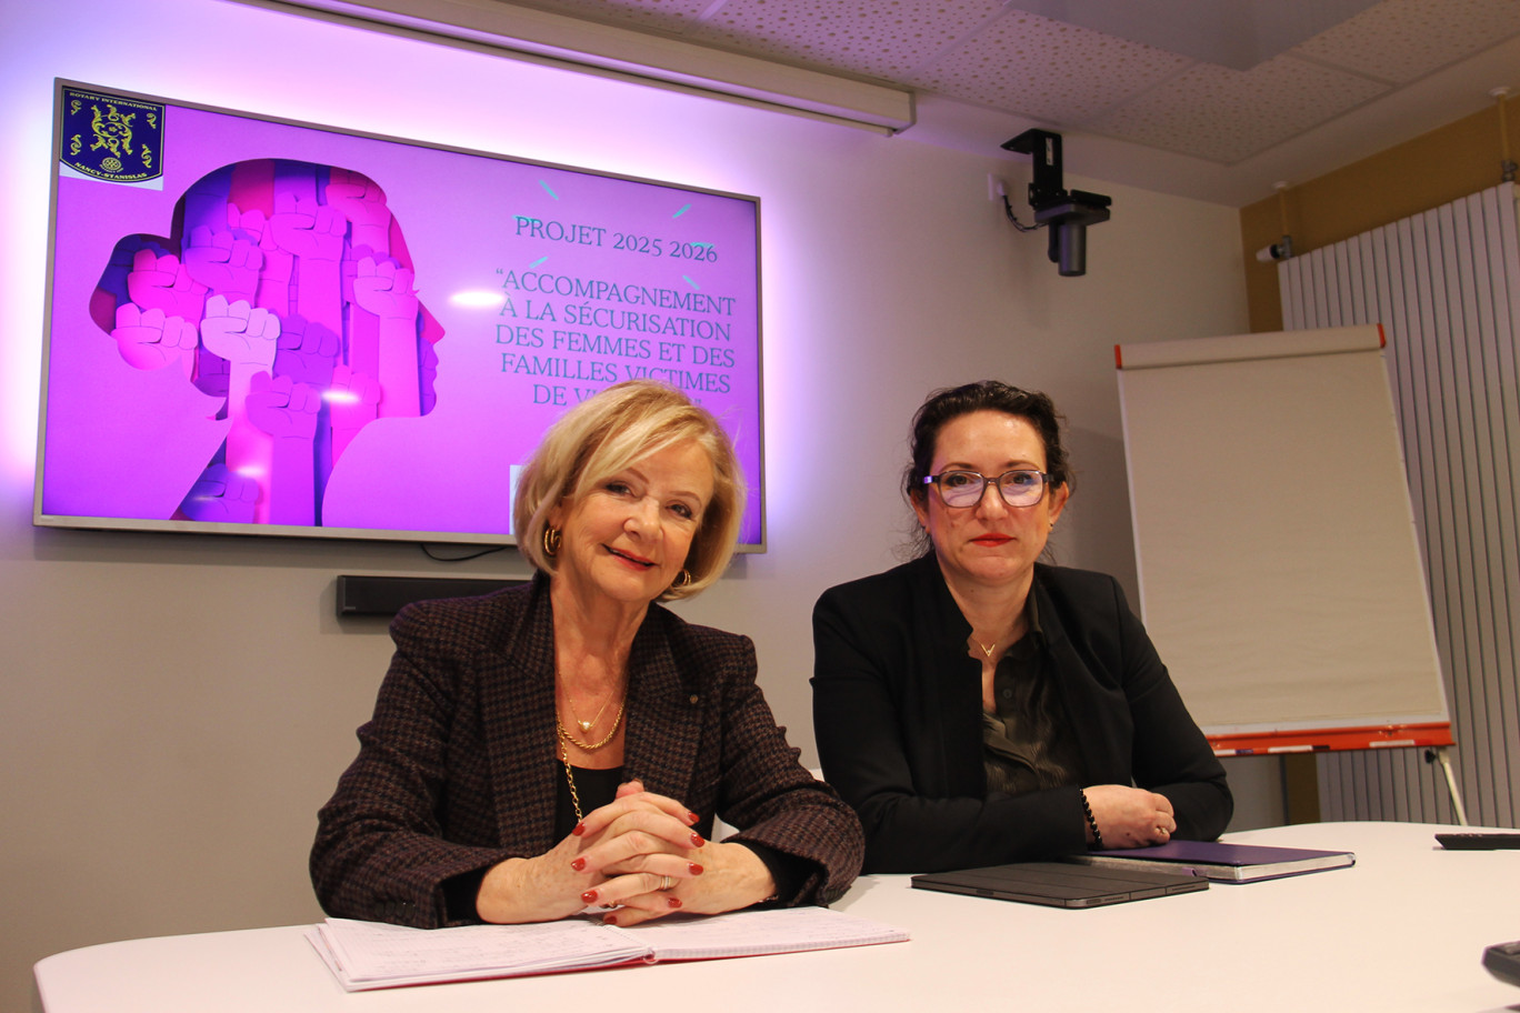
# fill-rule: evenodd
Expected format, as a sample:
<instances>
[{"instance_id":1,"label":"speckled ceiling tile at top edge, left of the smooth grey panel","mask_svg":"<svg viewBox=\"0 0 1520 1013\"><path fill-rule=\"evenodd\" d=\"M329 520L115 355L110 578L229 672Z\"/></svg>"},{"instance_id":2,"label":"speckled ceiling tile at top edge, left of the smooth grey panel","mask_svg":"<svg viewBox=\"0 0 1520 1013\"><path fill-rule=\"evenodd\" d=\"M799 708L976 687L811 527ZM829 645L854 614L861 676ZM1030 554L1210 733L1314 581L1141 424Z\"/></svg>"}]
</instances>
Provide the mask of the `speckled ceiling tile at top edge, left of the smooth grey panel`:
<instances>
[{"instance_id":1,"label":"speckled ceiling tile at top edge, left of the smooth grey panel","mask_svg":"<svg viewBox=\"0 0 1520 1013\"><path fill-rule=\"evenodd\" d=\"M690 38L856 74L901 77L1002 8L1002 0L728 0Z\"/></svg>"}]
</instances>

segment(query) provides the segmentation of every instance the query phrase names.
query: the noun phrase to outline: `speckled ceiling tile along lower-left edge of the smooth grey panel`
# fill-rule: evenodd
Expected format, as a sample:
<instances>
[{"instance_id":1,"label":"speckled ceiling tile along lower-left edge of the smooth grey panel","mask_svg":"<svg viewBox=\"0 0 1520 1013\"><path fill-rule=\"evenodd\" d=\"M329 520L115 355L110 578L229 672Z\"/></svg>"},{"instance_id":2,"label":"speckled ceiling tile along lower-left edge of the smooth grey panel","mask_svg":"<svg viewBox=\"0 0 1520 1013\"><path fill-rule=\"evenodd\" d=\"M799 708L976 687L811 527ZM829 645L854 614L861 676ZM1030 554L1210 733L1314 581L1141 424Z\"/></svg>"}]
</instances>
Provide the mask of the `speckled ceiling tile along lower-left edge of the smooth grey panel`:
<instances>
[{"instance_id":1,"label":"speckled ceiling tile along lower-left edge of the smooth grey panel","mask_svg":"<svg viewBox=\"0 0 1520 1013\"><path fill-rule=\"evenodd\" d=\"M1052 123L1084 123L1193 61L1009 11L909 84Z\"/></svg>"}]
</instances>

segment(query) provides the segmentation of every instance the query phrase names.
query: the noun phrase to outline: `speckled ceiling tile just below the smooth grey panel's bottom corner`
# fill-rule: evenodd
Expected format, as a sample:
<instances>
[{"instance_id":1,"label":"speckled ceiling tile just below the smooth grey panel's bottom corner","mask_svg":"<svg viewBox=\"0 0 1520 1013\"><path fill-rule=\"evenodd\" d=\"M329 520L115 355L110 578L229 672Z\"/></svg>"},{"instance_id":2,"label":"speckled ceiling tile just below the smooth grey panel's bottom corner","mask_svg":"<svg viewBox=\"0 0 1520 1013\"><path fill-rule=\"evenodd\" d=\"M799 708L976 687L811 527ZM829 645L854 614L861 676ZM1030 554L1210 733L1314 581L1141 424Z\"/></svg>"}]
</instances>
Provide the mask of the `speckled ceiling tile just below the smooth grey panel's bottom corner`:
<instances>
[{"instance_id":1,"label":"speckled ceiling tile just below the smooth grey panel's bottom corner","mask_svg":"<svg viewBox=\"0 0 1520 1013\"><path fill-rule=\"evenodd\" d=\"M1085 126L1228 166L1386 91L1388 85L1294 56L1248 71L1198 64Z\"/></svg>"}]
</instances>

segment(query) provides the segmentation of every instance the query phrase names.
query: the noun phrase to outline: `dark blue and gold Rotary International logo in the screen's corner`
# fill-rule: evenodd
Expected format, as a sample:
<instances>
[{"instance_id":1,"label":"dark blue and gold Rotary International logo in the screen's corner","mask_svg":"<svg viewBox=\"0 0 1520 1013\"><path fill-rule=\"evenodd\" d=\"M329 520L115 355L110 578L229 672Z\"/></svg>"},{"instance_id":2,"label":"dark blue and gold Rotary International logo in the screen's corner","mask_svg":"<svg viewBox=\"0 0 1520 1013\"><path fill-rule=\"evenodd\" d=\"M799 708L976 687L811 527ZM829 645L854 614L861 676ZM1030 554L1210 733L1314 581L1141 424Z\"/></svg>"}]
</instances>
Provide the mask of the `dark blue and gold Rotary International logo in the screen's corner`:
<instances>
[{"instance_id":1,"label":"dark blue and gold Rotary International logo in the screen's corner","mask_svg":"<svg viewBox=\"0 0 1520 1013\"><path fill-rule=\"evenodd\" d=\"M59 161L93 179L149 182L164 161L164 106L64 88Z\"/></svg>"}]
</instances>

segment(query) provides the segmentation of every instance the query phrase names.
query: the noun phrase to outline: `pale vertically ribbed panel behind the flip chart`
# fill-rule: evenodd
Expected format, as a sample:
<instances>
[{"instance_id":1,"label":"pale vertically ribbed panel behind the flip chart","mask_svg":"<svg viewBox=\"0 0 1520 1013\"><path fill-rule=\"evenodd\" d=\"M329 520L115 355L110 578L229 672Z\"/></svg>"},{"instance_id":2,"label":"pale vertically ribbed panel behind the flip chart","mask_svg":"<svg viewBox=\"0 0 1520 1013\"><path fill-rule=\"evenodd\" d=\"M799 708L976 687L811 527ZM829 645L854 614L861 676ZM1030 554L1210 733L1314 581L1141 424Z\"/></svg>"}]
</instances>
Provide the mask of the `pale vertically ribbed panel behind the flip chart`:
<instances>
[{"instance_id":1,"label":"pale vertically ribbed panel behind the flip chart","mask_svg":"<svg viewBox=\"0 0 1520 1013\"><path fill-rule=\"evenodd\" d=\"M1278 264L1287 330L1382 323L1468 822L1520 816L1514 184ZM1289 453L1313 453L1312 447ZM1313 494L1284 509L1313 509ZM1325 820L1455 822L1418 750L1318 758Z\"/></svg>"}]
</instances>

